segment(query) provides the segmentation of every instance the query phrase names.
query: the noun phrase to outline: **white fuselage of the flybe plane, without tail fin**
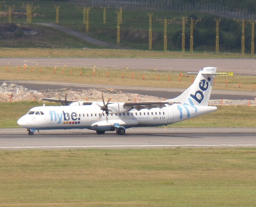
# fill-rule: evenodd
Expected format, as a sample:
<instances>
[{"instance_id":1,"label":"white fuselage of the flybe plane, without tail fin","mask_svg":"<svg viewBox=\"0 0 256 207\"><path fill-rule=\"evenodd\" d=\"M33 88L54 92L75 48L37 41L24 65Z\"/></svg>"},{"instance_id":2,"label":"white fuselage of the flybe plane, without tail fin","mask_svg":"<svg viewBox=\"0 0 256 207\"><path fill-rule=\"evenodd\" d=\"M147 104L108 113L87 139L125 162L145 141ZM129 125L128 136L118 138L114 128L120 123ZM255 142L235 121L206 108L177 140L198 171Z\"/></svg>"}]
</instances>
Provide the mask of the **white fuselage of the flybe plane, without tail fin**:
<instances>
[{"instance_id":1,"label":"white fuselage of the flybe plane, without tail fin","mask_svg":"<svg viewBox=\"0 0 256 207\"><path fill-rule=\"evenodd\" d=\"M115 114L102 113L95 103L79 106L38 106L18 120L23 128L44 129L92 129L110 131L114 125L125 128L161 126L183 121L216 111L214 106L165 105L153 109L131 109Z\"/></svg>"}]
</instances>

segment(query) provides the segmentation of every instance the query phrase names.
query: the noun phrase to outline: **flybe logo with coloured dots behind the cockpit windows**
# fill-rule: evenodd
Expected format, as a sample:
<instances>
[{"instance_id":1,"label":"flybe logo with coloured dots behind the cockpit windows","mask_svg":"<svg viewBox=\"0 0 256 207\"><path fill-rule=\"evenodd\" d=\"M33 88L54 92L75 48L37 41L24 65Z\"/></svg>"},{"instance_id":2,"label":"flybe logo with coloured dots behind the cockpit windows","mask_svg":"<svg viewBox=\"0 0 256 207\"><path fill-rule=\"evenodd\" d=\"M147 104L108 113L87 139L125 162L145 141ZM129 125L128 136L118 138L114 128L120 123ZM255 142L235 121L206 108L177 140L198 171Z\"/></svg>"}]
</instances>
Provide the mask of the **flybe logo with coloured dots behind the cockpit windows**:
<instances>
[{"instance_id":1,"label":"flybe logo with coloured dots behind the cockpit windows","mask_svg":"<svg viewBox=\"0 0 256 207\"><path fill-rule=\"evenodd\" d=\"M66 113L64 111L58 113L56 111L49 112L51 121L57 121L60 124L63 120L63 124L80 124L80 117L78 117L76 112Z\"/></svg>"}]
</instances>

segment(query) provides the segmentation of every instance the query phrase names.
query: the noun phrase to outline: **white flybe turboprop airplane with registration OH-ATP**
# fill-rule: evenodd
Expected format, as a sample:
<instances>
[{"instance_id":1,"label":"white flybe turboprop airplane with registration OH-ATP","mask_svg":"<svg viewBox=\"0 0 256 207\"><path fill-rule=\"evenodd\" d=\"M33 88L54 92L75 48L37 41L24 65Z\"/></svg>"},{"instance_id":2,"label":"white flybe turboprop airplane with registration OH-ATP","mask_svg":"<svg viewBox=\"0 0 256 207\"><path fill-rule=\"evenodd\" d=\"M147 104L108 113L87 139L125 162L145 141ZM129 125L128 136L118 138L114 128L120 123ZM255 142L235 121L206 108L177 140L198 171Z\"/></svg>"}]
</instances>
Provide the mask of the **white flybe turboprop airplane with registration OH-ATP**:
<instances>
[{"instance_id":1,"label":"white flybe turboprop airplane with registration OH-ATP","mask_svg":"<svg viewBox=\"0 0 256 207\"><path fill-rule=\"evenodd\" d=\"M97 134L116 131L125 134L126 129L140 126L162 126L214 112L208 106L216 67L201 69L194 83L176 98L163 102L106 103L69 101L43 98L44 101L61 102L63 106L33 107L18 120L29 135L35 130L47 129L91 129Z\"/></svg>"}]
</instances>

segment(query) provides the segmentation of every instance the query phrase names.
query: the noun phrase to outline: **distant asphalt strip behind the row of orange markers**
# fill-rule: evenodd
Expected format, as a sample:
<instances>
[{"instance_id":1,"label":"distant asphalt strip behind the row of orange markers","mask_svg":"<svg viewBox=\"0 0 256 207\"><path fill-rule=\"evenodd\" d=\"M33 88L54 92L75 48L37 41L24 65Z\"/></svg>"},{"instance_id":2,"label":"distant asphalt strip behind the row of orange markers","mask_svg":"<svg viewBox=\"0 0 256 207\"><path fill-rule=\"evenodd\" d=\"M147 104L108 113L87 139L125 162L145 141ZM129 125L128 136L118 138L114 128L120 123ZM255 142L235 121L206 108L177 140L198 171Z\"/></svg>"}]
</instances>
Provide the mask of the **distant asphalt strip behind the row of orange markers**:
<instances>
[{"instance_id":1,"label":"distant asphalt strip behind the row of orange markers","mask_svg":"<svg viewBox=\"0 0 256 207\"><path fill-rule=\"evenodd\" d=\"M0 65L9 66L72 66L96 68L129 68L198 72L206 66L217 72L256 75L256 59L175 59L175 58L0 58Z\"/></svg>"}]
</instances>

